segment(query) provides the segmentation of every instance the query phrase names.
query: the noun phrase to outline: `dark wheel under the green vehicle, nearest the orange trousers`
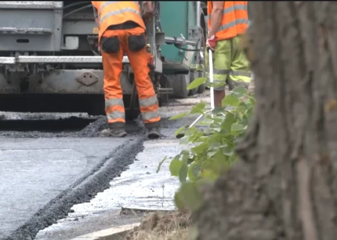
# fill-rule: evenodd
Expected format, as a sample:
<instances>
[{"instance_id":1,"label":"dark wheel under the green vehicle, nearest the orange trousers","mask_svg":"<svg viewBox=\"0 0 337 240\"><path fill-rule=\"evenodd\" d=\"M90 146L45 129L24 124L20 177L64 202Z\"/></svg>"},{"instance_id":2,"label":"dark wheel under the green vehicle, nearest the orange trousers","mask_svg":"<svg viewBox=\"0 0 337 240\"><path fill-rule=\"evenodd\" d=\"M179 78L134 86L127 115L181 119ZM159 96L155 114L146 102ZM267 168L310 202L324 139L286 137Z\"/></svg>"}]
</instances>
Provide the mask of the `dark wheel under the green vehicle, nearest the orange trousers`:
<instances>
[{"instance_id":1,"label":"dark wheel under the green vehicle, nearest the orange trousers","mask_svg":"<svg viewBox=\"0 0 337 240\"><path fill-rule=\"evenodd\" d=\"M167 75L168 84L173 88L173 97L175 98L186 98L188 96L189 90L187 86L190 81L190 73L188 74L175 74Z\"/></svg>"}]
</instances>

